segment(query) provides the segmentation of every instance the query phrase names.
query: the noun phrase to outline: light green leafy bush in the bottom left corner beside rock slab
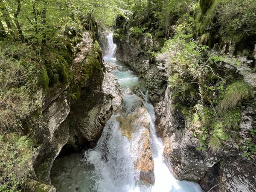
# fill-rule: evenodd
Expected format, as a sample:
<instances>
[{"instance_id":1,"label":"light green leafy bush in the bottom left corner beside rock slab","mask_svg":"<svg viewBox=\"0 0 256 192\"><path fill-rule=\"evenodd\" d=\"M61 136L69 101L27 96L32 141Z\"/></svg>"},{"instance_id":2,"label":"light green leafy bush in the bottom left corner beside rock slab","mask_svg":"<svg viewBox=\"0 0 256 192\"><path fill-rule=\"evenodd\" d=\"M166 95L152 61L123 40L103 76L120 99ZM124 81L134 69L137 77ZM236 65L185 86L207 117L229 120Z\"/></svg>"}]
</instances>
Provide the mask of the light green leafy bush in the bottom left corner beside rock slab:
<instances>
[{"instance_id":1,"label":"light green leafy bush in the bottom left corner beside rock slab","mask_svg":"<svg viewBox=\"0 0 256 192\"><path fill-rule=\"evenodd\" d=\"M0 191L17 192L32 171L36 148L27 137L17 134L0 136Z\"/></svg>"}]
</instances>

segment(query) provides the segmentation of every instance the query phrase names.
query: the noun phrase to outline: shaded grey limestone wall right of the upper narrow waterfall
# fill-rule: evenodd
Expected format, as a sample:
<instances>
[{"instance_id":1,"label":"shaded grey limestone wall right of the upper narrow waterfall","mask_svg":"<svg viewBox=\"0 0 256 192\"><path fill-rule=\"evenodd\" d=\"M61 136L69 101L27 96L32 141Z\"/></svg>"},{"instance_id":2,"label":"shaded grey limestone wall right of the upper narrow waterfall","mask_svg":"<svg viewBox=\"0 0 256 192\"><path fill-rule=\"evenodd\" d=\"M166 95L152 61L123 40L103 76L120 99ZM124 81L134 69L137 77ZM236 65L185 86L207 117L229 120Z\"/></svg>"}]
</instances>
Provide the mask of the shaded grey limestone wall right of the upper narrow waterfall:
<instances>
[{"instance_id":1,"label":"shaded grey limestone wall right of the upper narrow waterfall","mask_svg":"<svg viewBox=\"0 0 256 192\"><path fill-rule=\"evenodd\" d=\"M157 102L166 89L165 63L141 53L141 50L150 49L156 42L153 42L152 38L147 36L134 38L128 32L126 35L125 41L113 36L113 41L117 47L116 58L128 64L135 72L139 73L140 77L145 79L145 84L149 90L149 98L152 102Z\"/></svg>"}]
</instances>

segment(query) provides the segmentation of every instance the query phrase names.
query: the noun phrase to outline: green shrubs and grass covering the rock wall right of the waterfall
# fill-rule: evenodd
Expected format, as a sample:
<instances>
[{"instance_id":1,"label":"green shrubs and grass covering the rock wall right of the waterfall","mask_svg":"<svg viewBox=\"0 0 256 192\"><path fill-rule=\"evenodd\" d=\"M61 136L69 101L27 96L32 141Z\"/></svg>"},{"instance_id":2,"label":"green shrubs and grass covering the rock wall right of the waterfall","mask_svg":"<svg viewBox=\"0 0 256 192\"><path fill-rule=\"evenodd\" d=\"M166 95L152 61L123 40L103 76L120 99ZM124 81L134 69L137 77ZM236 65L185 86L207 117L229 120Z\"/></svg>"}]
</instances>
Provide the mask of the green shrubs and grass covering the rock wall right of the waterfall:
<instances>
[{"instance_id":1,"label":"green shrubs and grass covering the rock wall right of the waterfall","mask_svg":"<svg viewBox=\"0 0 256 192\"><path fill-rule=\"evenodd\" d=\"M236 137L244 109L239 104L250 99L253 89L244 81L227 81L219 74L216 63L224 58L209 54L208 47L195 41L194 21L188 15L184 18L162 49L167 56L169 87L185 111L193 137L198 138L198 150L218 151ZM207 36L203 41L208 41Z\"/></svg>"}]
</instances>

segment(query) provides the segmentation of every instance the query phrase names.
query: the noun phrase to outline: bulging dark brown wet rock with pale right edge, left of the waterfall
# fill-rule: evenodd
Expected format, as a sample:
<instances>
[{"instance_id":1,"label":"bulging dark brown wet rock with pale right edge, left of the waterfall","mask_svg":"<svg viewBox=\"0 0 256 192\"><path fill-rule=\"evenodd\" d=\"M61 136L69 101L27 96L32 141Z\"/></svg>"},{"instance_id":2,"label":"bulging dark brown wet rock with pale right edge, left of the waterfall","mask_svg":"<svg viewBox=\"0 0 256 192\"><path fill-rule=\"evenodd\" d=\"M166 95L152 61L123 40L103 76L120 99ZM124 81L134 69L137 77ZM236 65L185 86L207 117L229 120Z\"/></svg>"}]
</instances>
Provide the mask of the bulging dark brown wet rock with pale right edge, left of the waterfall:
<instances>
[{"instance_id":1,"label":"bulging dark brown wet rock with pale right edge, left of the waterfall","mask_svg":"<svg viewBox=\"0 0 256 192\"><path fill-rule=\"evenodd\" d=\"M70 126L79 145L94 142L114 111L122 104L121 90L110 73L94 73L81 89L81 97L71 107Z\"/></svg>"}]
</instances>

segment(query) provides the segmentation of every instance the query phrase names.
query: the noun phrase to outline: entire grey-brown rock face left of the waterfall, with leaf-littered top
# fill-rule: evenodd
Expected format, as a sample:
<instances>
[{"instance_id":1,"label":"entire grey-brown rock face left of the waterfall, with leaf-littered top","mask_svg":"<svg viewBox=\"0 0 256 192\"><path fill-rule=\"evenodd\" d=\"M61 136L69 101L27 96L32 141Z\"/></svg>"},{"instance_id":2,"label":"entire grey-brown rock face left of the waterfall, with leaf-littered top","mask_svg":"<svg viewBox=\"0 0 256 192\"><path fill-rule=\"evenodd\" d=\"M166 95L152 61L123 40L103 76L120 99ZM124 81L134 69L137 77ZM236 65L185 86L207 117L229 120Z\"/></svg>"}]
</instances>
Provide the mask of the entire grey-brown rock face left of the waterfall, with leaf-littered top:
<instances>
[{"instance_id":1,"label":"entire grey-brown rock face left of the waterfall, with leaf-littered top","mask_svg":"<svg viewBox=\"0 0 256 192\"><path fill-rule=\"evenodd\" d=\"M88 33L85 33L86 35ZM82 70L83 63L80 61L83 61L84 56L90 51L90 54L96 56L89 54L88 61L83 62L84 65L90 64L91 71L75 73L76 82L69 85L55 84L44 92L42 98L44 125L37 132L37 143L41 147L35 159L34 169L37 178L46 183L51 183L52 165L62 148L67 144L74 149L92 147L99 139L113 111L122 104L117 80L105 71L101 52L95 50L97 44L84 47L88 46L88 42L85 42L87 39L89 38L84 37L84 42L78 44L78 47L83 47L79 47L79 58L74 59L71 68L74 69L73 73L76 65L80 65ZM93 41L90 44L93 44ZM79 97L72 98L76 84L80 85Z\"/></svg>"}]
</instances>

